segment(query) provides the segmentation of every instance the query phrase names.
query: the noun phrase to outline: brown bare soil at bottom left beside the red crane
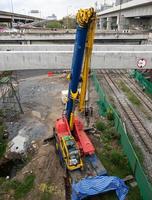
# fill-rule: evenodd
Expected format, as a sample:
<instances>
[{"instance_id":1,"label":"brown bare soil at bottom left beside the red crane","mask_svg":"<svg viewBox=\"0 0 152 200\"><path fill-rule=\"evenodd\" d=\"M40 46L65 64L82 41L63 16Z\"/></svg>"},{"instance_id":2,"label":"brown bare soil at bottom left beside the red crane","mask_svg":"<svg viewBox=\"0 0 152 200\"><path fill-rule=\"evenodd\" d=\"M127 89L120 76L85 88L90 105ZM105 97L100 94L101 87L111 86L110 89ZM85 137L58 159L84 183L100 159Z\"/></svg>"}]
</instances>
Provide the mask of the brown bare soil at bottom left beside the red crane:
<instances>
[{"instance_id":1,"label":"brown bare soil at bottom left beside the red crane","mask_svg":"<svg viewBox=\"0 0 152 200\"><path fill-rule=\"evenodd\" d=\"M35 184L32 191L25 197L26 200L42 199L43 192L50 192L51 199L65 199L64 171L53 144L37 146L38 152L32 160L17 174L18 180L23 180L27 174L35 175Z\"/></svg>"}]
</instances>

